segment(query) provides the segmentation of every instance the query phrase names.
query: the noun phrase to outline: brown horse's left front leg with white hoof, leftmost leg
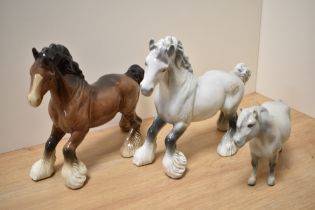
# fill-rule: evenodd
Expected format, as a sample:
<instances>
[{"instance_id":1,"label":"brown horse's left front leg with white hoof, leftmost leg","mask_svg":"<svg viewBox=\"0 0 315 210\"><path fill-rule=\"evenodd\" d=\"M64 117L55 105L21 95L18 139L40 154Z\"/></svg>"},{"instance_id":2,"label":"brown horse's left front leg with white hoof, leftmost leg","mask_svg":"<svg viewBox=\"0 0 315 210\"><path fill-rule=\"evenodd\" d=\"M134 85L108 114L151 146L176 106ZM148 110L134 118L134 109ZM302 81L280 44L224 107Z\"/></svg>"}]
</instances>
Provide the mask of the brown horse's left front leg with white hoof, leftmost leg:
<instances>
[{"instance_id":1,"label":"brown horse's left front leg with white hoof, leftmost leg","mask_svg":"<svg viewBox=\"0 0 315 210\"><path fill-rule=\"evenodd\" d=\"M31 168L30 177L34 181L48 178L54 173L54 164L56 161L55 149L64 135L65 132L53 125L51 134L45 144L43 158L36 161Z\"/></svg>"}]
</instances>

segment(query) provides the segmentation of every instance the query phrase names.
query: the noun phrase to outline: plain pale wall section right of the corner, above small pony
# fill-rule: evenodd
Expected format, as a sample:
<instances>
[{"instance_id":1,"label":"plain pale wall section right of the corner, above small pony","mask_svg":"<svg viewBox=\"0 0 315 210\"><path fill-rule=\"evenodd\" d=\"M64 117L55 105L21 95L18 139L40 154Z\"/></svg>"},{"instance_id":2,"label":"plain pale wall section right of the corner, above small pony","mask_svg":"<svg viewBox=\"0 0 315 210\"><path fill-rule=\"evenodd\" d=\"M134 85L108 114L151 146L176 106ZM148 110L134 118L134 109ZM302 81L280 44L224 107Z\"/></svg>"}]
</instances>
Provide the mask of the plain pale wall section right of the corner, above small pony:
<instances>
[{"instance_id":1,"label":"plain pale wall section right of the corner, above small pony","mask_svg":"<svg viewBox=\"0 0 315 210\"><path fill-rule=\"evenodd\" d=\"M315 1L264 0L257 92L315 118Z\"/></svg>"}]
</instances>

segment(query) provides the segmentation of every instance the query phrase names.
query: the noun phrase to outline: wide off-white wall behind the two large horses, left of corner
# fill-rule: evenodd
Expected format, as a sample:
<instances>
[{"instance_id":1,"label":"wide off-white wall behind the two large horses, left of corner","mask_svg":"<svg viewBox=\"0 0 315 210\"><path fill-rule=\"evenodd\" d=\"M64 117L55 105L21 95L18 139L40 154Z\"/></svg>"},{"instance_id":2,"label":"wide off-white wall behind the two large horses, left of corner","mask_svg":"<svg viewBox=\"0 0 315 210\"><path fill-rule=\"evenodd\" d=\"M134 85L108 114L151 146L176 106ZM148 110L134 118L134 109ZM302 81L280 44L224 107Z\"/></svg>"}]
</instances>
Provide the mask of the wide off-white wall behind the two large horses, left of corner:
<instances>
[{"instance_id":1,"label":"wide off-white wall behind the two large horses, left of corner","mask_svg":"<svg viewBox=\"0 0 315 210\"><path fill-rule=\"evenodd\" d=\"M249 93L255 91L260 16L261 0L1 0L0 152L43 143L50 133L49 94L37 109L26 100L32 47L64 44L91 83L134 63L143 66L149 39L173 35L197 75L247 63ZM141 96L138 114L154 113L152 97Z\"/></svg>"}]
</instances>

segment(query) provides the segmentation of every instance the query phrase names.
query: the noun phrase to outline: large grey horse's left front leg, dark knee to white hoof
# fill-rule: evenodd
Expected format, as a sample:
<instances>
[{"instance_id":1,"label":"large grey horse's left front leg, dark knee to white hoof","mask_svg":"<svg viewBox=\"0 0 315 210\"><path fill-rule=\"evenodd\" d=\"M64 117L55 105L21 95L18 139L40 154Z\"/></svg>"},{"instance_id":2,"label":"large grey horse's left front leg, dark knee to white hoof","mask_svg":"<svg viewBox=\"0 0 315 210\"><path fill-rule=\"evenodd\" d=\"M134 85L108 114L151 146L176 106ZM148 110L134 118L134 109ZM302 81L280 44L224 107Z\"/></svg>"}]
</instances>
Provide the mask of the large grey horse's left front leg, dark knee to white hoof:
<instances>
[{"instance_id":1,"label":"large grey horse's left front leg, dark knee to white hoof","mask_svg":"<svg viewBox=\"0 0 315 210\"><path fill-rule=\"evenodd\" d=\"M133 163L136 166L147 165L154 161L156 151L156 136L165 124L166 122L161 118L155 118L147 132L144 144L136 150L133 156Z\"/></svg>"}]
</instances>

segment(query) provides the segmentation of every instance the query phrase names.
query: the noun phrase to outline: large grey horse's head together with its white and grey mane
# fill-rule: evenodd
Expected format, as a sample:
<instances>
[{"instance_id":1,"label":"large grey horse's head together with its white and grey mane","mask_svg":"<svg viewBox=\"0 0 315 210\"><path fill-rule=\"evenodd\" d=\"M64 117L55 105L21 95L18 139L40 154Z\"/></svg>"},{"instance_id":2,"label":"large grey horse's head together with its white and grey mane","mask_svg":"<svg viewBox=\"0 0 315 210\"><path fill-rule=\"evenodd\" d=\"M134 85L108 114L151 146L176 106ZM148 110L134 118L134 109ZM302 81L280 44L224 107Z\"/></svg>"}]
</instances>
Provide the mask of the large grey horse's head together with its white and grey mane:
<instances>
[{"instance_id":1,"label":"large grey horse's head together with its white and grey mane","mask_svg":"<svg viewBox=\"0 0 315 210\"><path fill-rule=\"evenodd\" d=\"M192 72L188 58L184 55L183 45L175 37L167 36L158 42L151 39L149 50L145 59L144 79L141 82L143 95L150 96L165 73L174 67Z\"/></svg>"}]
</instances>

